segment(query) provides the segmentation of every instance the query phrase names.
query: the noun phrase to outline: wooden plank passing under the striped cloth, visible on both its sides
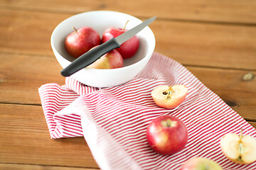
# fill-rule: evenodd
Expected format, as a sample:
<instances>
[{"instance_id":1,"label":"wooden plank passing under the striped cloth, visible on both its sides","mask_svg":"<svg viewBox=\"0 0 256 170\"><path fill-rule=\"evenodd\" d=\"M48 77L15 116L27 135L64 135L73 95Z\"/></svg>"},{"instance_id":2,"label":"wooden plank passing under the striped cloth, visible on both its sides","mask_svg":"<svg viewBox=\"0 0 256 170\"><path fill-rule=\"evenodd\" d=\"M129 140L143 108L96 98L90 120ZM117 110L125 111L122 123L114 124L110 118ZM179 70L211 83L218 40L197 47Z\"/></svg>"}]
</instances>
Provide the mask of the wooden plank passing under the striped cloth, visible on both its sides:
<instances>
[{"instance_id":1,"label":"wooden plank passing under the striped cloth, visible on both its sides","mask_svg":"<svg viewBox=\"0 0 256 170\"><path fill-rule=\"evenodd\" d=\"M0 55L0 60L3 63L0 64L0 103L40 105L38 88L41 85L65 84L65 78L60 75L61 67L54 57ZM23 64L20 64L22 61ZM255 77L250 81L243 81L242 77L248 73L247 71L187 68L242 117L247 120L256 120Z\"/></svg>"}]
</instances>

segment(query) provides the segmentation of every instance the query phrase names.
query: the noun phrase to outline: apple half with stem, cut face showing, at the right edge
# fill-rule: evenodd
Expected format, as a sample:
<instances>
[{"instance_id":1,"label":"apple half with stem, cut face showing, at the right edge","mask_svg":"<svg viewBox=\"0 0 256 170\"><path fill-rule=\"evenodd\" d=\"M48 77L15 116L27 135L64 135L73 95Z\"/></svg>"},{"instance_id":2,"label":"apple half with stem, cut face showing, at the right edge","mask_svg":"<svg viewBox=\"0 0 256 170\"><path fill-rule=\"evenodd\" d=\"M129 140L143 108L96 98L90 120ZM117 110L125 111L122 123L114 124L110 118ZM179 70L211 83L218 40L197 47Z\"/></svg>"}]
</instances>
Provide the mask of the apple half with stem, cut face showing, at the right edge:
<instances>
[{"instance_id":1,"label":"apple half with stem, cut face showing, at the right edge","mask_svg":"<svg viewBox=\"0 0 256 170\"><path fill-rule=\"evenodd\" d=\"M256 140L250 135L228 133L220 140L220 148L230 161L250 164L256 160Z\"/></svg>"}]
</instances>

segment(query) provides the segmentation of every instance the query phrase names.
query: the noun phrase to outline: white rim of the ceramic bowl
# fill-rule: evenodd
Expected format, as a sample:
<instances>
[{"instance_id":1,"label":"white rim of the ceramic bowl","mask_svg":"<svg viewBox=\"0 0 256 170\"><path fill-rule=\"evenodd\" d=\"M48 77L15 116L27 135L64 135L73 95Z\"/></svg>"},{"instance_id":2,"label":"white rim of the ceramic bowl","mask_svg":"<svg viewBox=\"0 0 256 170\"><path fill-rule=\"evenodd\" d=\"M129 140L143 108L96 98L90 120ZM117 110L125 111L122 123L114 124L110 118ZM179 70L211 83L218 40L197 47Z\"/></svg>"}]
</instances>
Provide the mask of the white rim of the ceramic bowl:
<instances>
[{"instance_id":1,"label":"white rim of the ceramic bowl","mask_svg":"<svg viewBox=\"0 0 256 170\"><path fill-rule=\"evenodd\" d=\"M53 52L54 52L54 53L57 52L57 54L58 54L60 57L62 57L63 60L65 60L66 62L68 62L68 63L70 64L71 62L70 62L69 60L67 60L65 57L63 57L62 55L60 55L60 53L58 52L58 50L56 50L55 45L54 45L54 43L53 43L53 36L56 34L56 31L57 31L57 29L61 26L61 24L67 22L67 21L70 20L71 18L75 18L75 17L81 16L81 15L85 15L85 14L87 14L87 13L98 13L98 12L102 12L102 13L119 13L119 14L122 14L122 15L124 15L124 16L132 17L132 18L138 20L139 22L142 22L139 18L137 18L137 17L135 17L135 16L131 16L131 15L127 14L127 13L122 13L122 12L119 12L119 11L107 11L107 10L105 11L105 10L100 10L100 11L86 11L86 12L82 12L82 13L77 13L77 14L75 14L75 15L73 15L73 16L70 16L70 17L68 17L68 18L65 18L65 20L63 20L63 21L61 21L60 23L58 23L58 26L56 26L56 27L54 28L53 33L52 33L51 36L50 36L50 45L51 45L51 47L52 47L52 49L53 49ZM154 41L150 43L150 44L152 45L152 47L149 48L149 50L146 51L146 55L142 58L142 60L139 60L139 61L134 62L133 64L129 64L129 65L127 65L127 66L120 67L120 68L115 68L115 69L93 69L93 68L87 68L87 67L85 67L85 68L83 68L83 69L93 70L93 72L103 72L103 71L104 71L104 72L112 72L113 70L127 69L127 67L136 67L137 64L139 64L139 63L141 63L141 62L144 62L144 60L148 60L148 58L150 58L151 55L153 54L154 49L155 49L155 47L156 47L156 38L155 38L154 33L153 33L153 31L151 30L151 28L149 28L149 26L146 26L146 28L149 29L149 33L151 33L151 36L154 38ZM148 56L148 55L150 55L150 56ZM57 57L57 56L55 55L55 57ZM61 65L61 64L60 64L60 65ZM62 65L61 65L61 67L62 67ZM64 67L63 67L63 68L64 68ZM81 69L81 70L82 70L82 69ZM80 70L80 71L81 71L81 70Z\"/></svg>"}]
</instances>

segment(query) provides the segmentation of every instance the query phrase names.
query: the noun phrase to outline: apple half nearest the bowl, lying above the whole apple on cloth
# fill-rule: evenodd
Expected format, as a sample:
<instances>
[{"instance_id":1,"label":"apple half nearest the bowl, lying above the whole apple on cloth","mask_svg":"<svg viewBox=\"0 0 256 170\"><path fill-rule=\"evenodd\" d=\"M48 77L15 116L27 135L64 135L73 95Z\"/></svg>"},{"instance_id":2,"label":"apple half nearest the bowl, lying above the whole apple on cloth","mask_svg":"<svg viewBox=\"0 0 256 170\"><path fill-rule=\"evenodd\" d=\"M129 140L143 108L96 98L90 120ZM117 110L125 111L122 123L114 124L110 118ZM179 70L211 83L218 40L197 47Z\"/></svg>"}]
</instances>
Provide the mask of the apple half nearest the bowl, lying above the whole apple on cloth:
<instances>
[{"instance_id":1,"label":"apple half nearest the bowl, lying above the whole apple on cloth","mask_svg":"<svg viewBox=\"0 0 256 170\"><path fill-rule=\"evenodd\" d=\"M162 85L151 91L154 102L162 108L176 108L185 100L187 94L188 88L183 85Z\"/></svg>"}]
</instances>

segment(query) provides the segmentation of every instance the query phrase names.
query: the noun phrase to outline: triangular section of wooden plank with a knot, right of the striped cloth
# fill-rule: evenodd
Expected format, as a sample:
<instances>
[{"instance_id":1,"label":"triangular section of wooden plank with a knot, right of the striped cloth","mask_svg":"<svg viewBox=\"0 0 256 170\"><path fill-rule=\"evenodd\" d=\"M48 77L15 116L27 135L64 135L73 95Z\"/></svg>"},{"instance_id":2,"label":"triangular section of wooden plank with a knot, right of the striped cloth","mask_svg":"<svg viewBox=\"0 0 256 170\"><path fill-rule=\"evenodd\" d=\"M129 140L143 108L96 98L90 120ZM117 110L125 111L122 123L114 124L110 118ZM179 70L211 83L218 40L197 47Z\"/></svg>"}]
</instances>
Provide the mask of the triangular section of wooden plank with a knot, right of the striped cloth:
<instances>
[{"instance_id":1,"label":"triangular section of wooden plank with a knot, right of the striped cloth","mask_svg":"<svg viewBox=\"0 0 256 170\"><path fill-rule=\"evenodd\" d=\"M242 79L249 72L233 69L187 68L243 118L256 120L256 79L255 77L250 81ZM256 72L250 73L256 74Z\"/></svg>"}]
</instances>

